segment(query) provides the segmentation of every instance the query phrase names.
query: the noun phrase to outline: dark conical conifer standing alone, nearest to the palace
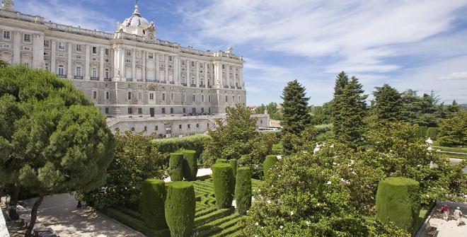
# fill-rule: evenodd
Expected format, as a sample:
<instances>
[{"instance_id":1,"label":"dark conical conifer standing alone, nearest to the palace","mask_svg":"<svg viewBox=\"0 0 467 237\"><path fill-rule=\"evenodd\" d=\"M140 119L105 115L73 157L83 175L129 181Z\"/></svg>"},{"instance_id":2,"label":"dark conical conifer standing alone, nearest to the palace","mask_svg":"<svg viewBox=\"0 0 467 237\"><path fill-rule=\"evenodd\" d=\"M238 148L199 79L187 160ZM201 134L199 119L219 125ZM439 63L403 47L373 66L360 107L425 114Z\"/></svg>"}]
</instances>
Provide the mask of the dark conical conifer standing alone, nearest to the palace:
<instances>
[{"instance_id":1,"label":"dark conical conifer standing alone, nearest to the palace","mask_svg":"<svg viewBox=\"0 0 467 237\"><path fill-rule=\"evenodd\" d=\"M282 92L282 111L284 113L282 125L284 132L300 134L311 120L308 113L308 100L305 88L298 81L289 81Z\"/></svg>"}]
</instances>

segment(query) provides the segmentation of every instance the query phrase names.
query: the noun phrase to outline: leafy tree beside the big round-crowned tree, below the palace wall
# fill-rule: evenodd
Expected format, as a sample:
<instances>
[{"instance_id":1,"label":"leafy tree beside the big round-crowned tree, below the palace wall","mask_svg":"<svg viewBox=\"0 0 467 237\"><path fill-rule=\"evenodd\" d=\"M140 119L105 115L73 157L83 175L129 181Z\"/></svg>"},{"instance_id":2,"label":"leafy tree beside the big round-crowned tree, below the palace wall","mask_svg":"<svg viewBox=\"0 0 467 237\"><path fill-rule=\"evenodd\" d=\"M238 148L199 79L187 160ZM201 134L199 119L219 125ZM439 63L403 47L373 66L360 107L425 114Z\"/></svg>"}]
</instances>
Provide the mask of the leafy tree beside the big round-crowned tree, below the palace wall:
<instances>
[{"instance_id":1,"label":"leafy tree beside the big round-crowned tree, below the palace wall","mask_svg":"<svg viewBox=\"0 0 467 237\"><path fill-rule=\"evenodd\" d=\"M115 158L107 181L99 189L83 193L83 199L98 209L115 205L137 209L141 185L149 178L163 178L158 167L164 159L150 137L142 133L115 134Z\"/></svg>"}]
</instances>

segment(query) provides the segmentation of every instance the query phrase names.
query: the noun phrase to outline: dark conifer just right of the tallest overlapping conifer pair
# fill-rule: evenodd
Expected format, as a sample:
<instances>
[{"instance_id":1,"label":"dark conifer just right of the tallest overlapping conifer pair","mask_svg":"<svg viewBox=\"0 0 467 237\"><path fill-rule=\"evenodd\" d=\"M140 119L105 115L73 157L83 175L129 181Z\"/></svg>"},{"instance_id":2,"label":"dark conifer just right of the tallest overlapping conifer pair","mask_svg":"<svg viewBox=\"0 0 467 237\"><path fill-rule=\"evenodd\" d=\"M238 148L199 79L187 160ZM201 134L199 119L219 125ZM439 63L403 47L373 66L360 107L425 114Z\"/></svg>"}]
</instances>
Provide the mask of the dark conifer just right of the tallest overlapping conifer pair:
<instances>
[{"instance_id":1,"label":"dark conifer just right of the tallest overlapping conifer pair","mask_svg":"<svg viewBox=\"0 0 467 237\"><path fill-rule=\"evenodd\" d=\"M374 113L378 119L391 122L402 119L403 101L400 93L388 84L375 88L376 91L373 92L376 100Z\"/></svg>"}]
</instances>

